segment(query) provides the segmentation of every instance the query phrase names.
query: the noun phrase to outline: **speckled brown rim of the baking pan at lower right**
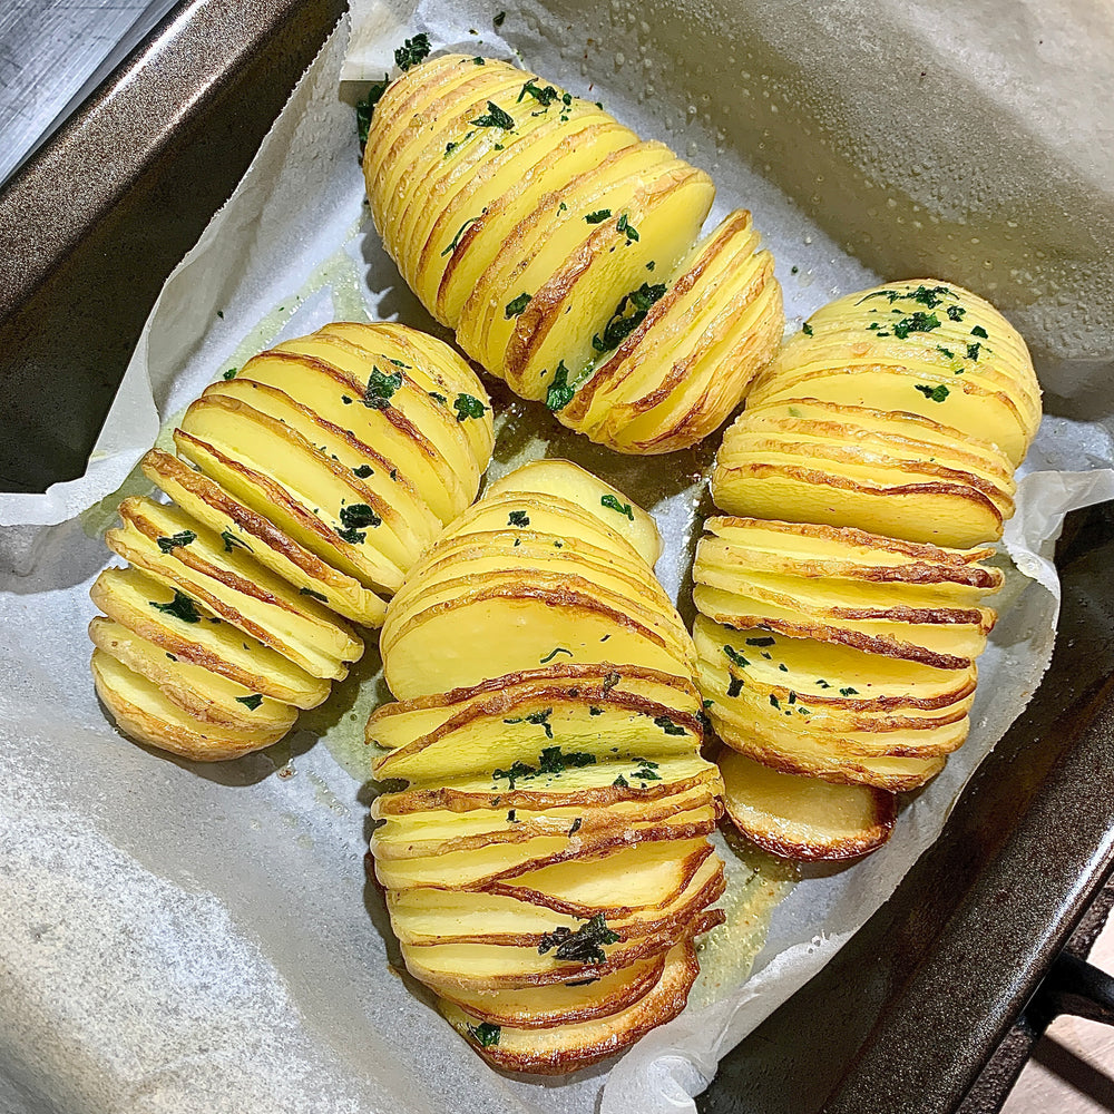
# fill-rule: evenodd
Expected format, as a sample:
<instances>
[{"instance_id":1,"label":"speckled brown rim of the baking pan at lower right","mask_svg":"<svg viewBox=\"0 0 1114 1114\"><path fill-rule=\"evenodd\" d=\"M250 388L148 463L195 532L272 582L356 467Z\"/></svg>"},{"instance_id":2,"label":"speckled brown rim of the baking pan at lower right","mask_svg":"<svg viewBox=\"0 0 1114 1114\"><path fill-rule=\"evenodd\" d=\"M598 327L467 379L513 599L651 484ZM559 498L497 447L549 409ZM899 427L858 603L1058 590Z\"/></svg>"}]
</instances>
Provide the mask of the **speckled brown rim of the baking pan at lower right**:
<instances>
[{"instance_id":1,"label":"speckled brown rim of the baking pan at lower right","mask_svg":"<svg viewBox=\"0 0 1114 1114\"><path fill-rule=\"evenodd\" d=\"M991 869L980 873L929 946L925 961L888 1003L871 1038L823 1104L824 1114L942 1114L956 1110L1089 901L1111 877L1114 677L1107 678L1088 703L1089 714L1071 732L1074 740L1067 753L1049 773ZM1081 793L1081 785L1097 792ZM956 804L957 812L971 807L965 801L971 795L969 785ZM1075 830L1074 843L1048 838L1048 832L1065 821ZM1081 853L1081 843L1091 852ZM1076 881L1073 890L1058 899L1039 885L1032 890L1001 889L1003 873L1008 877L1015 870L1027 870L1033 878L1061 876L1065 858L1071 859ZM990 922L998 919L1015 928L1027 927L1029 932L1018 931L1013 941L1016 947L989 957L979 945L994 938ZM998 961L991 962L991 958ZM941 990L944 986L949 987L948 993ZM990 1018L979 1006L988 987L1003 1005ZM970 1009L965 1008L968 1000ZM938 1064L911 1058L910 1049L926 1043L950 1047L956 1071L941 1073Z\"/></svg>"}]
</instances>

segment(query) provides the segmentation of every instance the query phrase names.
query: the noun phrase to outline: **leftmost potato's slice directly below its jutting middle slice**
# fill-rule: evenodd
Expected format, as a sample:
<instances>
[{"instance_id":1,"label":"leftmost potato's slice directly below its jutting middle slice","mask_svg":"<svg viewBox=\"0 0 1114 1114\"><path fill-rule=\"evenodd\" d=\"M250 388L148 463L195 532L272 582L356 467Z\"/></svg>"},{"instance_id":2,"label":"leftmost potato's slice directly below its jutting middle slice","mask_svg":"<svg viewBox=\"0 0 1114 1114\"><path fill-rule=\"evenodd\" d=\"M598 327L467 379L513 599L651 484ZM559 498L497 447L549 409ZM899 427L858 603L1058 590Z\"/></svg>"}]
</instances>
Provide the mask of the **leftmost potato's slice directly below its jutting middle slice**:
<instances>
[{"instance_id":1,"label":"leftmost potato's slice directly below its jutting middle slice","mask_svg":"<svg viewBox=\"0 0 1114 1114\"><path fill-rule=\"evenodd\" d=\"M343 677L345 663L363 652L363 643L342 619L250 555L235 547L225 553L219 536L182 511L149 499L125 499L120 517L124 527L105 536L114 553L180 588L313 676Z\"/></svg>"}]
</instances>

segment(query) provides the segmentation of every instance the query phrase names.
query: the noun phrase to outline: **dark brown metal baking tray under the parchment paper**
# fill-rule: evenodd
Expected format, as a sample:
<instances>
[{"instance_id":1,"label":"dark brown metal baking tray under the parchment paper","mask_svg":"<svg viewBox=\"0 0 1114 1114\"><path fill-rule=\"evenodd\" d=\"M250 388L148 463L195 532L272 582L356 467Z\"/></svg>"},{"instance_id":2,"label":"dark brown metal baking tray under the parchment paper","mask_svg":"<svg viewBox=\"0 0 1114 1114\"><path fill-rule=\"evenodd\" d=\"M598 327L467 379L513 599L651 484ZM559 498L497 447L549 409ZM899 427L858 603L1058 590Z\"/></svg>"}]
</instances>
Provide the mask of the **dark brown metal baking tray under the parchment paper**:
<instances>
[{"instance_id":1,"label":"dark brown metal baking tray under the parchment paper","mask_svg":"<svg viewBox=\"0 0 1114 1114\"><path fill-rule=\"evenodd\" d=\"M0 193L4 489L42 490L84 470L162 283L342 7L178 4ZM942 838L724 1061L703 1110L957 1110L1110 874L1110 508L1072 516L1057 560L1061 636L1033 703Z\"/></svg>"}]
</instances>

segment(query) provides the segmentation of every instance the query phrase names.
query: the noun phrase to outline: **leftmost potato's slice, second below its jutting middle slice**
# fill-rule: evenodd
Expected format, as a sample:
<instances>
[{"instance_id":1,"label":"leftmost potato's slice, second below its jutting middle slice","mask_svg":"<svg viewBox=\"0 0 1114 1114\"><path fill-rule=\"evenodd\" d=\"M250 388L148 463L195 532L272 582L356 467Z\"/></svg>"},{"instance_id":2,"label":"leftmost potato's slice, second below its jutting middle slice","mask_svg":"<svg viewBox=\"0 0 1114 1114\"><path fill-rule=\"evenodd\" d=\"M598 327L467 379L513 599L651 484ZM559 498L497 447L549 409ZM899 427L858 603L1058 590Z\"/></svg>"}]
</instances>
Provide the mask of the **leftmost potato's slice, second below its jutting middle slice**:
<instances>
[{"instance_id":1,"label":"leftmost potato's slice, second below its jutting middle slice","mask_svg":"<svg viewBox=\"0 0 1114 1114\"><path fill-rule=\"evenodd\" d=\"M164 653L218 673L250 692L296 707L315 707L329 695L328 681L299 668L205 607L195 608L196 622L183 618L170 606L175 590L137 568L108 568L94 582L89 595L110 619Z\"/></svg>"}]
</instances>

